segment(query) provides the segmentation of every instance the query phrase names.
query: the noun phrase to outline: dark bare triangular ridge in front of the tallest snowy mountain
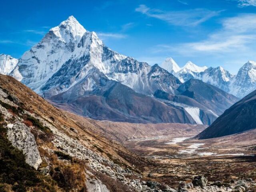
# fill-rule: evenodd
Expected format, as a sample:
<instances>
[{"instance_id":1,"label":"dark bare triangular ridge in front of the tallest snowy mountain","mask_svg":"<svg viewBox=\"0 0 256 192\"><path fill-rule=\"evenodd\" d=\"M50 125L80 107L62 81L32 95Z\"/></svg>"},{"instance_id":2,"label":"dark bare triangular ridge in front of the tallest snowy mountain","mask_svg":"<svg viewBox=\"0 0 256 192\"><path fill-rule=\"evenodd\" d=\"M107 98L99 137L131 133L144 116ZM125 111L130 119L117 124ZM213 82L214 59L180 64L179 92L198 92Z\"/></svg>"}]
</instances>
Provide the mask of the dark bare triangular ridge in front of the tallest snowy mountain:
<instances>
[{"instance_id":1,"label":"dark bare triangular ridge in front of the tallest snowy mountain","mask_svg":"<svg viewBox=\"0 0 256 192\"><path fill-rule=\"evenodd\" d=\"M66 92L50 97L45 92L44 96L62 108L99 120L195 123L182 108L168 106L119 82L109 80L96 68L90 74L93 76L86 76ZM94 86L88 90L90 82Z\"/></svg>"}]
</instances>

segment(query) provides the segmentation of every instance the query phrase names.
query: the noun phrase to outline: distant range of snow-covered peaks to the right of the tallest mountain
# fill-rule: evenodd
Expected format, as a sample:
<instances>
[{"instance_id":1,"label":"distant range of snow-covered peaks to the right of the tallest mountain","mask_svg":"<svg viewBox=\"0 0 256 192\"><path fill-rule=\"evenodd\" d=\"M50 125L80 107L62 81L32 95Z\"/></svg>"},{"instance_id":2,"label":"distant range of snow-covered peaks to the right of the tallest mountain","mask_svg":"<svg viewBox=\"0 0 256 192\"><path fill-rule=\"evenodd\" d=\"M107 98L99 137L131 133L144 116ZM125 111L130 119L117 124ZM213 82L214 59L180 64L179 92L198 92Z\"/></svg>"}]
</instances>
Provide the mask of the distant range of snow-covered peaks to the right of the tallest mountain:
<instances>
[{"instance_id":1,"label":"distant range of snow-covered peaks to the right of the tallest mountain","mask_svg":"<svg viewBox=\"0 0 256 192\"><path fill-rule=\"evenodd\" d=\"M221 66L216 68L199 67L191 61L180 68L172 58L166 58L161 66L181 82L186 82L191 78L199 79L238 98L243 98L256 89L256 62L254 61L246 62L236 75Z\"/></svg>"}]
</instances>

